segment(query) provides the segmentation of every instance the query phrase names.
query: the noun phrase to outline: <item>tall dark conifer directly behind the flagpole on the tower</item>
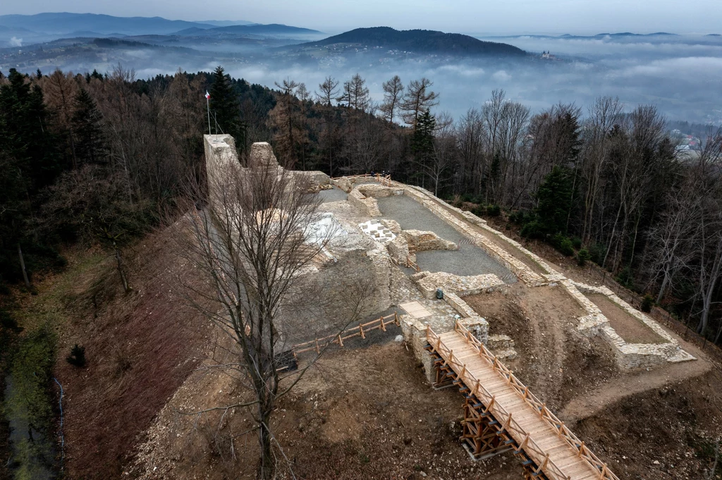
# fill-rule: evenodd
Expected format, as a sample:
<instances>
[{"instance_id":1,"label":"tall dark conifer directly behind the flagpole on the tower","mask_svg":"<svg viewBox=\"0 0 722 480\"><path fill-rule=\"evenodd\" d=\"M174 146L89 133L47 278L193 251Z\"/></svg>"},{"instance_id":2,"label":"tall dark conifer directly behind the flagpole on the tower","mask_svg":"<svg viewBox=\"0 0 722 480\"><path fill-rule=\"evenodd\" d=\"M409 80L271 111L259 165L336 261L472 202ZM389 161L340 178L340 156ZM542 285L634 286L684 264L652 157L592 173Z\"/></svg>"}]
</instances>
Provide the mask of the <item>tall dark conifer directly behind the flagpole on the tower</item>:
<instances>
[{"instance_id":1,"label":"tall dark conifer directly behind the flagpole on the tower","mask_svg":"<svg viewBox=\"0 0 722 480\"><path fill-rule=\"evenodd\" d=\"M211 86L211 118L215 118L217 128L235 139L236 147L245 147L245 128L240 120L240 104L238 92L231 83L230 75L225 74L222 66L217 66L213 74ZM213 123L211 130L215 131Z\"/></svg>"}]
</instances>

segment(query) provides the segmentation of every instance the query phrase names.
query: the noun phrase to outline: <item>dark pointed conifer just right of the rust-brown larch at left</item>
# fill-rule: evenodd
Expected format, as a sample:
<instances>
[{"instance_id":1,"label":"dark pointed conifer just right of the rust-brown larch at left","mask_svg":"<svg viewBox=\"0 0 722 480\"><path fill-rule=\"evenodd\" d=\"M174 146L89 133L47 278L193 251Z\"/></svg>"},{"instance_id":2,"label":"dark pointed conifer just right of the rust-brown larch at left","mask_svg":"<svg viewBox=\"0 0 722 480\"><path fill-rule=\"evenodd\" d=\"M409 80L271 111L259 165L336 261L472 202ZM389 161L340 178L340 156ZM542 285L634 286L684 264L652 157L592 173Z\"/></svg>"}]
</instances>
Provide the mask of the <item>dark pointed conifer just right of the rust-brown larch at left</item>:
<instances>
[{"instance_id":1,"label":"dark pointed conifer just right of the rust-brown larch at left","mask_svg":"<svg viewBox=\"0 0 722 480\"><path fill-rule=\"evenodd\" d=\"M87 90L80 89L75 97L72 130L75 154L79 165L100 164L105 161L105 137L100 121L103 115Z\"/></svg>"}]
</instances>

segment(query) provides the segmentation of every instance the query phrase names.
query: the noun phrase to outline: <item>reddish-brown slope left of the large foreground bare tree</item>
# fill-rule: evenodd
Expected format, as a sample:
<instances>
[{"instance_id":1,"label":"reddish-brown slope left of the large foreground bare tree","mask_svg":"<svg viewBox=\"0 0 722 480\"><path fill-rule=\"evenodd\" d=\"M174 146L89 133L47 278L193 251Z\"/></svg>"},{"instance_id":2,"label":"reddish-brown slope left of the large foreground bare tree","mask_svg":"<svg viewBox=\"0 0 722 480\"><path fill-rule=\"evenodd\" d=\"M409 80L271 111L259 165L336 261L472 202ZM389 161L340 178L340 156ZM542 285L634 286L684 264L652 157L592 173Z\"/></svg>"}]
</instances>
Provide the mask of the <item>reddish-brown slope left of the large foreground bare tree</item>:
<instances>
[{"instance_id":1,"label":"reddish-brown slope left of the large foreground bare tree","mask_svg":"<svg viewBox=\"0 0 722 480\"><path fill-rule=\"evenodd\" d=\"M173 294L173 274L184 269L167 235L147 237L129 255L130 294L112 258L80 274L66 294L56 376L71 478L120 476L136 437L206 352L208 325ZM83 369L63 361L76 343L86 349Z\"/></svg>"}]
</instances>

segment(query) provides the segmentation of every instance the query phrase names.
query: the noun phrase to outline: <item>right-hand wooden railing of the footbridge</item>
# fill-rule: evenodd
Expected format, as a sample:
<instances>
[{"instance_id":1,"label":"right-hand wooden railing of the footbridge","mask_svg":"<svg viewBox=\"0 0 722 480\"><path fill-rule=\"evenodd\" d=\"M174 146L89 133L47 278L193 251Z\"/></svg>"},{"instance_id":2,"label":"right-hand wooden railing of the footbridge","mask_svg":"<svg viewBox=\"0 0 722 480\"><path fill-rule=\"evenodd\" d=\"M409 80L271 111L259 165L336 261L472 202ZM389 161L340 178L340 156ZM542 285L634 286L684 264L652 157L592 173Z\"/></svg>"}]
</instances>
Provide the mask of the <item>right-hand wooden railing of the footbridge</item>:
<instances>
[{"instance_id":1,"label":"right-hand wooden railing of the footbridge","mask_svg":"<svg viewBox=\"0 0 722 480\"><path fill-rule=\"evenodd\" d=\"M464 336L466 342L474 349L476 349L477 352L479 352L479 356L482 357L482 359L486 360L489 365L494 368L494 370L496 370L507 380L507 383L512 388L514 388L514 390L517 391L517 393L524 399L524 401L526 401L526 403L536 409L536 411L539 411L539 416L541 417L541 419L544 419L544 421L547 422L549 426L551 426L557 431L557 434L560 435L562 439L564 439L572 448L577 450L579 458L583 458L589 465L595 468L596 471L599 471L599 479L619 480L619 477L614 475L612 471L609 471L609 467L606 466L606 463L602 462L599 457L594 455L594 453L589 450L586 445L584 445L584 442L579 440L579 438L574 435L574 433L569 428L567 428L564 422L558 419L557 416L552 413L552 411L549 411L546 404L539 400L539 398L536 398L534 393L531 393L529 391L529 388L523 383L521 383L521 381L516 378L513 372L511 372L511 370L509 370L505 365L503 365L503 363L499 362L495 355L492 354L489 349L487 349L487 347L484 346L484 344L482 344L482 342L469 331L469 329L456 321L456 324L454 325L454 330ZM435 336L435 333L431 333ZM438 336L436 336L436 338L438 339ZM539 465L539 463L537 463L537 465ZM566 477L562 476L561 478Z\"/></svg>"}]
</instances>

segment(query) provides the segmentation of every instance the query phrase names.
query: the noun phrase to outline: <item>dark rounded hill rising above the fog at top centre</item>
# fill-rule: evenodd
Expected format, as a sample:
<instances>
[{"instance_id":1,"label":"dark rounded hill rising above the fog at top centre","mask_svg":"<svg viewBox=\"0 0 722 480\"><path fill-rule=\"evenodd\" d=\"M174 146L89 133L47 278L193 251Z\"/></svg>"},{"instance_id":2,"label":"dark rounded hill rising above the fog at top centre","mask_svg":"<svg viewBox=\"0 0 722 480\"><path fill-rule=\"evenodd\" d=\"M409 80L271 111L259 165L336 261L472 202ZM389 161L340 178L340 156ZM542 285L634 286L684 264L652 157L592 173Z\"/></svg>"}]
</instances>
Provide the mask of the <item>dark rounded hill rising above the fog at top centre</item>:
<instances>
[{"instance_id":1,"label":"dark rounded hill rising above the fog at top centre","mask_svg":"<svg viewBox=\"0 0 722 480\"><path fill-rule=\"evenodd\" d=\"M433 30L394 30L390 27L357 28L317 42L298 46L358 44L418 53L469 56L524 56L526 52L507 43L484 42L460 33Z\"/></svg>"}]
</instances>

